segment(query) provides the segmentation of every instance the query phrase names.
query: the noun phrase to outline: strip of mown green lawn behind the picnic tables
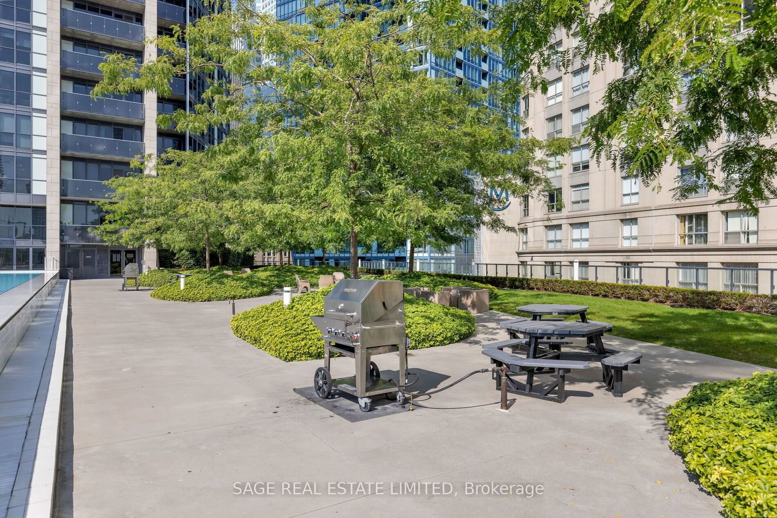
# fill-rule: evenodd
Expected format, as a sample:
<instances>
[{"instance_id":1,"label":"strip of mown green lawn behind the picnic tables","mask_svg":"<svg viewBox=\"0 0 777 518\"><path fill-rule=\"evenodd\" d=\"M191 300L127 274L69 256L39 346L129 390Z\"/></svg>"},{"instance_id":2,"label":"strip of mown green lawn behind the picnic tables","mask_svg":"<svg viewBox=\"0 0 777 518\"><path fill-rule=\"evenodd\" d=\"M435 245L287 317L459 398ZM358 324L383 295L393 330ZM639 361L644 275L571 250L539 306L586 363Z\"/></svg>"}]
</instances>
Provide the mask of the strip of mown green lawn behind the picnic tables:
<instances>
[{"instance_id":1,"label":"strip of mown green lawn behind the picnic tables","mask_svg":"<svg viewBox=\"0 0 777 518\"><path fill-rule=\"evenodd\" d=\"M611 335L777 368L777 317L525 290L500 290L490 306L521 315L524 304L588 306L588 319L611 323Z\"/></svg>"}]
</instances>

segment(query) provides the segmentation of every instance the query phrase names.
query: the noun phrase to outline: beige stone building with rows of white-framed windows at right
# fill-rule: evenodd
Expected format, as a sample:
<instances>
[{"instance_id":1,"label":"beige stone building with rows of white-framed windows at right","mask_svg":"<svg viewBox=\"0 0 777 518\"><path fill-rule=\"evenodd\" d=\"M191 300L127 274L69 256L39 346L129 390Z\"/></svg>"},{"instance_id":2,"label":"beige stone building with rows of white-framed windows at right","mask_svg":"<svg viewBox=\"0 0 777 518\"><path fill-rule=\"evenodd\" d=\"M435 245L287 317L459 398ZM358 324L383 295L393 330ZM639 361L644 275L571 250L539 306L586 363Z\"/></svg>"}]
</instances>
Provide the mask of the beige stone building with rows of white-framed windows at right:
<instances>
[{"instance_id":1,"label":"beige stone building with rows of white-framed windows at right","mask_svg":"<svg viewBox=\"0 0 777 518\"><path fill-rule=\"evenodd\" d=\"M557 34L556 48L576 45L576 34ZM601 108L608 83L629 73L622 63L610 62L594 74L580 57L569 72L548 71L547 95L522 99L522 134L579 136L588 117ZM724 134L712 151L735 138ZM774 146L777 139L764 144ZM499 203L507 205L502 214L519 228L517 235L483 231L482 262L492 263L490 273L506 273L507 263L510 275L570 278L577 260L583 279L761 293L774 289L766 269L777 268L775 200L756 216L736 203L719 204L725 194L700 184L678 202L671 189L678 182L697 183L690 167L664 167L657 190L621 176L607 160L591 159L586 141L570 155L549 158L558 164L548 172L549 193ZM721 172L715 174L720 179Z\"/></svg>"}]
</instances>

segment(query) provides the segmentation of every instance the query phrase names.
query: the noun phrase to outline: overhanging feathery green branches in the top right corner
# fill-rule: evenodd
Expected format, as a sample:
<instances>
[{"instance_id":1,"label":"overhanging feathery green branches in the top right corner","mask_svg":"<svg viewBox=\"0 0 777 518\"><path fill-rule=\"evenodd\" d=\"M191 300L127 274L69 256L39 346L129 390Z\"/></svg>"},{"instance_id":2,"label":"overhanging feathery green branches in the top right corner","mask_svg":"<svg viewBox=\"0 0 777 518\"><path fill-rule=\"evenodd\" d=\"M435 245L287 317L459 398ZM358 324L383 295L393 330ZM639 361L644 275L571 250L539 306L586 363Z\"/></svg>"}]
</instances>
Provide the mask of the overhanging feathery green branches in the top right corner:
<instances>
[{"instance_id":1,"label":"overhanging feathery green branches in the top right corner","mask_svg":"<svg viewBox=\"0 0 777 518\"><path fill-rule=\"evenodd\" d=\"M666 164L695 166L725 201L757 210L777 196L775 134L777 10L773 0L508 0L496 13L517 96L547 91L545 71L569 68L571 52L601 70L608 60L632 68L610 82L584 133L596 158L657 182ZM590 7L589 7L590 6ZM557 30L580 32L559 54ZM716 150L721 134L736 137ZM712 148L712 149L711 149ZM717 181L712 169L723 172ZM681 184L683 199L698 185Z\"/></svg>"}]
</instances>

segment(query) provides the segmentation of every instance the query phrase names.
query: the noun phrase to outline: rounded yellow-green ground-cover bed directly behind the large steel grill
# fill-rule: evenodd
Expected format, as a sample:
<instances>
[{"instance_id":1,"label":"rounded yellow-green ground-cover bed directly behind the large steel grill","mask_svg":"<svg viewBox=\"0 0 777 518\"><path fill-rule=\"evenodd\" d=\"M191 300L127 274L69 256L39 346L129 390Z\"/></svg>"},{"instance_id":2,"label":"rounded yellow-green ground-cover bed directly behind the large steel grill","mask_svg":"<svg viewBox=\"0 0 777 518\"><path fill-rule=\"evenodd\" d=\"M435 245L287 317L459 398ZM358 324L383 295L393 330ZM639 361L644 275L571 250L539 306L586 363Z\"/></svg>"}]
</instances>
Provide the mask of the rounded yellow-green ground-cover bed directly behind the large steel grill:
<instances>
[{"instance_id":1,"label":"rounded yellow-green ground-cover bed directly behind the large steel grill","mask_svg":"<svg viewBox=\"0 0 777 518\"><path fill-rule=\"evenodd\" d=\"M232 332L280 360L317 360L324 357L324 341L310 317L322 315L331 287L242 311L232 318ZM475 317L466 311L405 297L405 322L411 349L444 346L475 332Z\"/></svg>"}]
</instances>

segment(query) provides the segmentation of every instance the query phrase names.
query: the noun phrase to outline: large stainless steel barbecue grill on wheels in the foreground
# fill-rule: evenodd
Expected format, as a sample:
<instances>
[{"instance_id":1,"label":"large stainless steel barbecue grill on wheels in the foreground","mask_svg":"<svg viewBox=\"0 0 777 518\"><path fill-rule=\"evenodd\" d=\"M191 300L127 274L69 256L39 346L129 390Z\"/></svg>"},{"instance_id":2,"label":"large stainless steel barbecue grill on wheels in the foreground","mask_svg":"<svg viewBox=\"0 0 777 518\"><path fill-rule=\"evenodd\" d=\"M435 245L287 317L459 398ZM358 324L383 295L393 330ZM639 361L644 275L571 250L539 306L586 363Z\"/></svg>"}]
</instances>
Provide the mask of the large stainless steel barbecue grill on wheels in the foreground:
<instances>
[{"instance_id":1,"label":"large stainless steel barbecue grill on wheels in the foreground","mask_svg":"<svg viewBox=\"0 0 777 518\"><path fill-rule=\"evenodd\" d=\"M403 405L405 395L392 381L381 379L372 356L399 353L399 381L407 381L405 303L399 280L344 279L324 299L324 315L311 317L324 338L324 367L313 377L319 398L329 398L333 388L359 398L362 412L371 410L371 396L396 393ZM332 352L356 360L356 374L333 379Z\"/></svg>"}]
</instances>

